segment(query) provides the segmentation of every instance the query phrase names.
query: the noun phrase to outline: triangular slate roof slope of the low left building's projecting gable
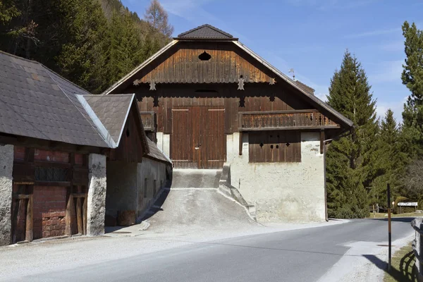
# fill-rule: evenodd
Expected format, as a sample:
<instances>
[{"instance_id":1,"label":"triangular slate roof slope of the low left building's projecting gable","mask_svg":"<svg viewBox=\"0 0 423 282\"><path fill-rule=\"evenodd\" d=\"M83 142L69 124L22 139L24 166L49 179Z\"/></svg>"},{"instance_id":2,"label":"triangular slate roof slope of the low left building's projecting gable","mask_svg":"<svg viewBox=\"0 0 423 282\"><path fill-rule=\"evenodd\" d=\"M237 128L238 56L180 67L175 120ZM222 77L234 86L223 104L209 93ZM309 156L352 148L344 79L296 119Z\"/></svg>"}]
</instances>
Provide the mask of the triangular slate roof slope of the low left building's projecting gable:
<instances>
[{"instance_id":1,"label":"triangular slate roof slope of the low left building's projecting gable","mask_svg":"<svg viewBox=\"0 0 423 282\"><path fill-rule=\"evenodd\" d=\"M119 144L123 125L133 102L133 94L116 94L113 96L84 95L91 109L109 132L112 139Z\"/></svg>"}]
</instances>

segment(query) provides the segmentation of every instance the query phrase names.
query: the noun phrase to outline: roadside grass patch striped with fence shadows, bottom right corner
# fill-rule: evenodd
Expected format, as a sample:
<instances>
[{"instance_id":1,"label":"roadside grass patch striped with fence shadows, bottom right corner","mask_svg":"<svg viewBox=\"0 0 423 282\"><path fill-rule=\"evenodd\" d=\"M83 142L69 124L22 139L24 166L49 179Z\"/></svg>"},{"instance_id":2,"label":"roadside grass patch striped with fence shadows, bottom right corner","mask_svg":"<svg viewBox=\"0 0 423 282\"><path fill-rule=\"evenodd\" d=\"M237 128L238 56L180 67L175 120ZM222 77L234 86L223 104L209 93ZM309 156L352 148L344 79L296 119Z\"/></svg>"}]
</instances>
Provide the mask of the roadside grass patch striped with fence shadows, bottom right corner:
<instances>
[{"instance_id":1,"label":"roadside grass patch striped with fence shadows, bottom right corner","mask_svg":"<svg viewBox=\"0 0 423 282\"><path fill-rule=\"evenodd\" d=\"M388 271L386 269L386 271ZM384 282L417 282L417 269L415 269L415 255L411 243L400 248L392 256L391 273L385 272Z\"/></svg>"}]
</instances>

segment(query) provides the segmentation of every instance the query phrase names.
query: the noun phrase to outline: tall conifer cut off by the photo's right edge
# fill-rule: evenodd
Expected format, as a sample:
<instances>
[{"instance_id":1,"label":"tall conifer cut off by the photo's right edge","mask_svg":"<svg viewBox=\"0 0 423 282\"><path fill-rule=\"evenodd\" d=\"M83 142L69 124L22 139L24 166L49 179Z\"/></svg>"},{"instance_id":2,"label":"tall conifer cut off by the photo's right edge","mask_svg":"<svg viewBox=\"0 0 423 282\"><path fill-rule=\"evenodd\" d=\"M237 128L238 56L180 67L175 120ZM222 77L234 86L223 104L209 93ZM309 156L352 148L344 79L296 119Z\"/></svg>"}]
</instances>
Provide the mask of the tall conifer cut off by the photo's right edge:
<instances>
[{"instance_id":1,"label":"tall conifer cut off by the photo's right edge","mask_svg":"<svg viewBox=\"0 0 423 282\"><path fill-rule=\"evenodd\" d=\"M410 157L423 157L423 31L406 21L403 35L407 59L401 78L411 92L403 111L404 137Z\"/></svg>"}]
</instances>

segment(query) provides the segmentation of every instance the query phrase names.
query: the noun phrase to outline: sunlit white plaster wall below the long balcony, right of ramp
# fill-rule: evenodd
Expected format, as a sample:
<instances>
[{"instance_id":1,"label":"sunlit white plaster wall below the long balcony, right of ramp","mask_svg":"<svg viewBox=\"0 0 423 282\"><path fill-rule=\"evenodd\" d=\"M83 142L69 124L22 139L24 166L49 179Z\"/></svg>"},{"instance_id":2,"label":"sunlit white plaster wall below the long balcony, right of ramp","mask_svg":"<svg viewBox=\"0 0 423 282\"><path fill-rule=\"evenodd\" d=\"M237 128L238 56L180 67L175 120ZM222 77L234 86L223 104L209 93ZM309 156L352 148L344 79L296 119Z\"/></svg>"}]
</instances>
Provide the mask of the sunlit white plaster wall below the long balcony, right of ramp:
<instances>
[{"instance_id":1,"label":"sunlit white plaster wall below the long balcony, right of ramp","mask_svg":"<svg viewBox=\"0 0 423 282\"><path fill-rule=\"evenodd\" d=\"M325 220L324 156L319 133L301 133L300 163L248 163L248 134L227 135L227 159L231 184L250 204L257 221L310 222Z\"/></svg>"}]
</instances>

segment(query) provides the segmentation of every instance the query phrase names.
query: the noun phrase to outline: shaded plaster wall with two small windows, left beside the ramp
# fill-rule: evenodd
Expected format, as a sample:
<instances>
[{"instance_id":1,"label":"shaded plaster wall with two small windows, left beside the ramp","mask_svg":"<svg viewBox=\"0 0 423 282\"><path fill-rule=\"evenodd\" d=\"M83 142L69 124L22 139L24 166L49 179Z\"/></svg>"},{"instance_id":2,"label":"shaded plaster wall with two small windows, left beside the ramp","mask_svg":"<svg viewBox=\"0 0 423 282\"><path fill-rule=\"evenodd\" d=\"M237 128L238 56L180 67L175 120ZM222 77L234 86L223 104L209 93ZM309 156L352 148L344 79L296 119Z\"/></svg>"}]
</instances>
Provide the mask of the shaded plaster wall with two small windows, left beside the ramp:
<instances>
[{"instance_id":1,"label":"shaded plaster wall with two small windows, left beside the ramp","mask_svg":"<svg viewBox=\"0 0 423 282\"><path fill-rule=\"evenodd\" d=\"M166 186L166 166L171 164L147 158L143 158L142 163L137 164L137 222L140 222L145 210L151 207L154 197ZM145 186L146 178L147 186ZM155 187L154 180L156 180Z\"/></svg>"}]
</instances>

